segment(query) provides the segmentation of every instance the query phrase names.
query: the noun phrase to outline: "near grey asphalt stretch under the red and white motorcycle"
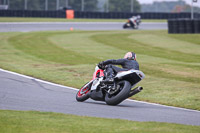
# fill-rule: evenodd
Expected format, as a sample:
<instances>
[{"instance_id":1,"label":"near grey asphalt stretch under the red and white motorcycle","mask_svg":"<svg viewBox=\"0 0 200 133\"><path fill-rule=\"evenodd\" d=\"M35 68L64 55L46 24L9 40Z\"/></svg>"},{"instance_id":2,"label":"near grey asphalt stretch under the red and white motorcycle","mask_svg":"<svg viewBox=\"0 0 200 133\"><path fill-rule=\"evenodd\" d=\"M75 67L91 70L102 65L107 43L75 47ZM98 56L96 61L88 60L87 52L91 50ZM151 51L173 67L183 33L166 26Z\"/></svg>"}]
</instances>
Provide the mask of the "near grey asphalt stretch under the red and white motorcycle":
<instances>
[{"instance_id":1,"label":"near grey asphalt stretch under the red and white motorcycle","mask_svg":"<svg viewBox=\"0 0 200 133\"><path fill-rule=\"evenodd\" d=\"M77 90L73 88L0 69L0 109L200 125L200 111L132 100L118 106L93 100L77 102L76 93Z\"/></svg>"}]
</instances>

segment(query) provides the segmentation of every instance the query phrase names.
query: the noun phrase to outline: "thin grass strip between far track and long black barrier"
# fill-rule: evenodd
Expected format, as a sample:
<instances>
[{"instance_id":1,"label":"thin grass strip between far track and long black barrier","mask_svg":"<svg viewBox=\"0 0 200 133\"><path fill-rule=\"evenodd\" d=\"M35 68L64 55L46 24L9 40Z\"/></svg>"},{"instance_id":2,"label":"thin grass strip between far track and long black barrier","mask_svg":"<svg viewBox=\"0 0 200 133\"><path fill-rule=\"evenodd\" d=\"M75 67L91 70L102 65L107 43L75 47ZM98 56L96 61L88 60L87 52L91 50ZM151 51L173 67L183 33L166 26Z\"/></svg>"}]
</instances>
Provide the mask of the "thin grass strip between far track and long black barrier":
<instances>
[{"instance_id":1,"label":"thin grass strip between far track and long black barrier","mask_svg":"<svg viewBox=\"0 0 200 133\"><path fill-rule=\"evenodd\" d=\"M128 18L127 18L128 19ZM65 19L65 18L29 18L0 17L0 22L126 22L127 19ZM167 22L165 19L142 19L143 22Z\"/></svg>"}]
</instances>

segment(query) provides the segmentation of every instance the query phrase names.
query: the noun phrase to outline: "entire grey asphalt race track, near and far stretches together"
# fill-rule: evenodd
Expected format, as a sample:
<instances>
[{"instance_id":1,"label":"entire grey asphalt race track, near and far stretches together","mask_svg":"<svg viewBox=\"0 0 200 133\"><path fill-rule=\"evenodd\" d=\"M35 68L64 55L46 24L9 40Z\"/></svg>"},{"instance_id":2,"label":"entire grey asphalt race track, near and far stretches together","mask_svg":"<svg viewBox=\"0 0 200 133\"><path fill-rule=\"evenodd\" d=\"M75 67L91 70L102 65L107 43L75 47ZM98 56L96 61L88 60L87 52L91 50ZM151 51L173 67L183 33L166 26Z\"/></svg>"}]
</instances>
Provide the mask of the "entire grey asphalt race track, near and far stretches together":
<instances>
[{"instance_id":1,"label":"entire grey asphalt race track, near and far stretches together","mask_svg":"<svg viewBox=\"0 0 200 133\"><path fill-rule=\"evenodd\" d=\"M0 32L55 30L124 30L120 22L41 22L0 23ZM139 30L167 29L167 23L142 23ZM145 91L145 88L144 88ZM133 121L157 121L200 125L200 111L126 100L118 106L87 100L77 102L77 89L0 69L0 109L35 110L120 118Z\"/></svg>"}]
</instances>

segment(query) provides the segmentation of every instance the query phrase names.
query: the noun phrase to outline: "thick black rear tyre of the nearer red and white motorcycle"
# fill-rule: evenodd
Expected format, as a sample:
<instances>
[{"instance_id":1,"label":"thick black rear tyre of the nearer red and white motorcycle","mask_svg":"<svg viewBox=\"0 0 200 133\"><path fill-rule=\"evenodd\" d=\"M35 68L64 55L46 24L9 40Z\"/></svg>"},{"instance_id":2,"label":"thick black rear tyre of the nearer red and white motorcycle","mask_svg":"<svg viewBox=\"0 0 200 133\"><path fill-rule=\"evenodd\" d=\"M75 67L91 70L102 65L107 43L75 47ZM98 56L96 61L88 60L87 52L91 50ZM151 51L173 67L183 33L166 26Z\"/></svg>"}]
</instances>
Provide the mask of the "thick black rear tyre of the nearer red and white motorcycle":
<instances>
[{"instance_id":1,"label":"thick black rear tyre of the nearer red and white motorcycle","mask_svg":"<svg viewBox=\"0 0 200 133\"><path fill-rule=\"evenodd\" d=\"M118 82L117 85L120 85L120 90L116 95L112 96L109 93L106 93L106 96L105 96L106 104L117 105L129 96L129 93L131 91L130 82L123 80L123 81Z\"/></svg>"}]
</instances>

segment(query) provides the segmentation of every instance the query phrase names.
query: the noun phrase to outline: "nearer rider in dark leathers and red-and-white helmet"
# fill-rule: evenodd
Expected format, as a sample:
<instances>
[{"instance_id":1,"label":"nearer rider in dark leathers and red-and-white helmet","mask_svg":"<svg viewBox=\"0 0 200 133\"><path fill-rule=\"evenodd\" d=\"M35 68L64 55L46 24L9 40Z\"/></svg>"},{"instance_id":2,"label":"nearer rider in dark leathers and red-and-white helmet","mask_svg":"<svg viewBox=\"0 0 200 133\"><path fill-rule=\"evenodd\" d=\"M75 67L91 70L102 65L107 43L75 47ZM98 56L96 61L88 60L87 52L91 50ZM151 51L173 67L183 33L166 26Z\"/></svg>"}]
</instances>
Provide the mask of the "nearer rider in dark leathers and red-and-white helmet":
<instances>
[{"instance_id":1,"label":"nearer rider in dark leathers and red-and-white helmet","mask_svg":"<svg viewBox=\"0 0 200 133\"><path fill-rule=\"evenodd\" d=\"M122 68L116 67L114 65L121 65ZM113 74L120 71L127 71L130 69L139 70L139 64L136 61L136 54L134 52L128 52L125 54L123 59L110 59L102 61L98 64L99 68L106 70L106 79L103 82L112 83L114 81Z\"/></svg>"}]
</instances>

